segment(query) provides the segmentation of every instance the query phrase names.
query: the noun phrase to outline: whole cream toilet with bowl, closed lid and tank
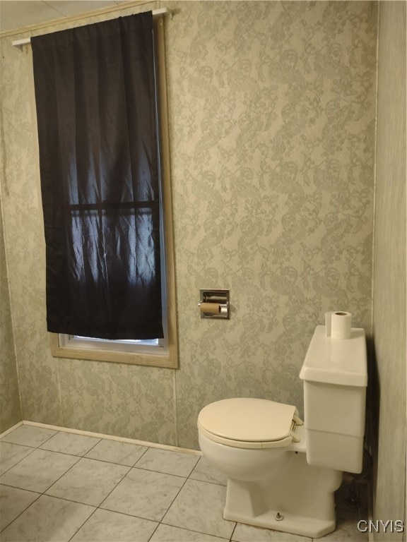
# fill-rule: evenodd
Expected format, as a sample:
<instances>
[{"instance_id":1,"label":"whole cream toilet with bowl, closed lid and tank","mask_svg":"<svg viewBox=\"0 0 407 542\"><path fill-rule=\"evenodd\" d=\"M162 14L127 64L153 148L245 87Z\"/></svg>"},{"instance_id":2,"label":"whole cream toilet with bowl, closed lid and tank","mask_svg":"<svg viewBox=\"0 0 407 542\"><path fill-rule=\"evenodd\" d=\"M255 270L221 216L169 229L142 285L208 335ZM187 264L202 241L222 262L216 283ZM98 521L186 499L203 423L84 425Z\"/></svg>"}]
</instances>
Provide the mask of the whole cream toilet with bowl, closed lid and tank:
<instances>
[{"instance_id":1,"label":"whole cream toilet with bowl, closed lid and tank","mask_svg":"<svg viewBox=\"0 0 407 542\"><path fill-rule=\"evenodd\" d=\"M293 405L222 399L199 413L199 445L228 477L225 519L319 538L336 528L343 471L362 471L365 330L336 339L317 326L300 378L304 422Z\"/></svg>"}]
</instances>

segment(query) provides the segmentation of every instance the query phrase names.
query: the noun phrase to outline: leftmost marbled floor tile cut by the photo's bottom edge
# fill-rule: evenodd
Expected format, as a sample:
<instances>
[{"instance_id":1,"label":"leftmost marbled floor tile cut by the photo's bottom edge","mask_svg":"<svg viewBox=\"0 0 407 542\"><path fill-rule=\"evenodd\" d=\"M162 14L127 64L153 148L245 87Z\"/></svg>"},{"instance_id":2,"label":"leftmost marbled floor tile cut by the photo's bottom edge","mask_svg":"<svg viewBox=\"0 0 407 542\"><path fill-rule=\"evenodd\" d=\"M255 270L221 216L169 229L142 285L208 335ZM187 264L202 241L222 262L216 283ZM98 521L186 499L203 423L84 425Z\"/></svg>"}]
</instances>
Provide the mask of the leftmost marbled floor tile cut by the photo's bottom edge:
<instances>
[{"instance_id":1,"label":"leftmost marbled floor tile cut by the photo's bottom edge","mask_svg":"<svg viewBox=\"0 0 407 542\"><path fill-rule=\"evenodd\" d=\"M41 495L0 536L4 542L64 542L92 514L95 508Z\"/></svg>"}]
</instances>

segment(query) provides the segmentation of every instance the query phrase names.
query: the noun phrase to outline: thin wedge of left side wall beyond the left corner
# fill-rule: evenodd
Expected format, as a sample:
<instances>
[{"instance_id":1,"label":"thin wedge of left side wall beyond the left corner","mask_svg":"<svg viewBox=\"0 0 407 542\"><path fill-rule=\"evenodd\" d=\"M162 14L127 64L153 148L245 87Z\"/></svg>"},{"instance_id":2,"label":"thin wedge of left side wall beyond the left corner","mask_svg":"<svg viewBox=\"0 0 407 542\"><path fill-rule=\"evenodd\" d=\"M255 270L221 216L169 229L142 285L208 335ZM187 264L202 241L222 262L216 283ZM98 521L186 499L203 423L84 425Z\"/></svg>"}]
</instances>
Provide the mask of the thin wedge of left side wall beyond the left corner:
<instances>
[{"instance_id":1,"label":"thin wedge of left side wall beyond the left corner","mask_svg":"<svg viewBox=\"0 0 407 542\"><path fill-rule=\"evenodd\" d=\"M22 419L1 215L0 205L0 434Z\"/></svg>"}]
</instances>

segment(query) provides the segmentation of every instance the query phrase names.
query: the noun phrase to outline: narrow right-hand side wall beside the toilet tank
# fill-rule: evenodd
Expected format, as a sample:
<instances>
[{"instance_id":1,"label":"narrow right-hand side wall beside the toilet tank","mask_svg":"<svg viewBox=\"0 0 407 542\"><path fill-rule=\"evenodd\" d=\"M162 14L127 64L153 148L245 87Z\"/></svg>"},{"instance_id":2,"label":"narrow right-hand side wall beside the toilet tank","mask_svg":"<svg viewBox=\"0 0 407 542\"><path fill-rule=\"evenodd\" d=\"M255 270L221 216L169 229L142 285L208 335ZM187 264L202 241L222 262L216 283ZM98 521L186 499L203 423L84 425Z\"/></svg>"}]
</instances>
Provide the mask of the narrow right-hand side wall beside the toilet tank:
<instances>
[{"instance_id":1,"label":"narrow right-hand side wall beside the toilet tank","mask_svg":"<svg viewBox=\"0 0 407 542\"><path fill-rule=\"evenodd\" d=\"M406 519L406 3L383 2L379 20L374 519L384 520ZM386 534L386 540L402 540L402 534Z\"/></svg>"}]
</instances>

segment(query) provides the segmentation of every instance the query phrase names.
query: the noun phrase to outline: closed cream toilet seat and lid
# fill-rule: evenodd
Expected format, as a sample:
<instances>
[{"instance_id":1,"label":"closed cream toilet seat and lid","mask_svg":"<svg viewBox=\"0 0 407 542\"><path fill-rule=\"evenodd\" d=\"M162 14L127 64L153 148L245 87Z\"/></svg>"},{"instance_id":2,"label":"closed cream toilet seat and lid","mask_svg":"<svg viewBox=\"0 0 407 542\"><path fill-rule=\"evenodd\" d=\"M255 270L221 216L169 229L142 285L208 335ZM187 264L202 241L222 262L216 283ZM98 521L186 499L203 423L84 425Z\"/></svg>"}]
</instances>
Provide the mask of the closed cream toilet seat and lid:
<instances>
[{"instance_id":1,"label":"closed cream toilet seat and lid","mask_svg":"<svg viewBox=\"0 0 407 542\"><path fill-rule=\"evenodd\" d=\"M294 433L296 424L302 421L295 406L247 397L208 404L198 416L203 435L239 448L289 446L300 440Z\"/></svg>"}]
</instances>

